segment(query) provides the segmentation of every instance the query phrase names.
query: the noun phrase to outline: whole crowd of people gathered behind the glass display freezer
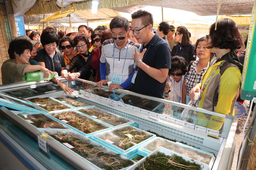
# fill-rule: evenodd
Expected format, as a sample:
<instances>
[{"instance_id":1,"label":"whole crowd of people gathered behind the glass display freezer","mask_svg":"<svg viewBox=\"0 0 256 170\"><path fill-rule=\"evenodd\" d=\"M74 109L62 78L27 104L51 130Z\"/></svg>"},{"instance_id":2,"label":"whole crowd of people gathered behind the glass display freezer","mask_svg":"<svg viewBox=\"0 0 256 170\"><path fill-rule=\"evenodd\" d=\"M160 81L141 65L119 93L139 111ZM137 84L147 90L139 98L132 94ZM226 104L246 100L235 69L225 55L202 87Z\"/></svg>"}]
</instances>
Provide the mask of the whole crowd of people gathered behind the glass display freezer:
<instances>
[{"instance_id":1,"label":"whole crowd of people gathered behind the glass display freezer","mask_svg":"<svg viewBox=\"0 0 256 170\"><path fill-rule=\"evenodd\" d=\"M98 88L111 81L109 90L126 89L158 98L172 91L175 102L191 101L195 107L234 115L243 64L235 52L242 41L234 21L222 19L212 24L209 35L193 45L184 26L175 29L163 21L153 29L153 16L144 10L131 17L130 22L113 18L110 29L81 25L78 32L72 28L57 32L49 26L41 35L27 30L27 36L10 42L10 59L2 64L2 83L23 81L27 72L41 70L44 77L55 73L69 81L81 78L96 82ZM72 92L57 83L65 92ZM196 101L195 93L200 94ZM203 113L197 117L198 125L214 130L224 123L223 118Z\"/></svg>"}]
</instances>

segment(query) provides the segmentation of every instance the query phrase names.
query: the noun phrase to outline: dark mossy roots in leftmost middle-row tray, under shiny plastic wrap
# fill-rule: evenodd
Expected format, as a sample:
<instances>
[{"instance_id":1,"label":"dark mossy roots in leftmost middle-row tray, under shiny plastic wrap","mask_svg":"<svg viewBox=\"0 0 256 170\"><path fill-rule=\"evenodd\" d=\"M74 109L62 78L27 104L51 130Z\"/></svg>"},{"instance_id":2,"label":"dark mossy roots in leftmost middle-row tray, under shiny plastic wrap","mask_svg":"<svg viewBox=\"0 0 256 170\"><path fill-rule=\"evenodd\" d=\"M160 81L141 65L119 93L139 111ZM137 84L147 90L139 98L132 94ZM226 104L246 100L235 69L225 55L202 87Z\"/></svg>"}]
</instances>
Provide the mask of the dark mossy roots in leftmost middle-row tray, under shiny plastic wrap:
<instances>
[{"instance_id":1,"label":"dark mossy roots in leftmost middle-row tray, under shiny plastic wrap","mask_svg":"<svg viewBox=\"0 0 256 170\"><path fill-rule=\"evenodd\" d=\"M52 120L48 118L46 115L40 114L17 114L19 117L30 120L33 123L32 125L36 126L37 128L52 128L52 129L68 129L67 127L63 126L63 124L59 123L58 121Z\"/></svg>"}]
</instances>

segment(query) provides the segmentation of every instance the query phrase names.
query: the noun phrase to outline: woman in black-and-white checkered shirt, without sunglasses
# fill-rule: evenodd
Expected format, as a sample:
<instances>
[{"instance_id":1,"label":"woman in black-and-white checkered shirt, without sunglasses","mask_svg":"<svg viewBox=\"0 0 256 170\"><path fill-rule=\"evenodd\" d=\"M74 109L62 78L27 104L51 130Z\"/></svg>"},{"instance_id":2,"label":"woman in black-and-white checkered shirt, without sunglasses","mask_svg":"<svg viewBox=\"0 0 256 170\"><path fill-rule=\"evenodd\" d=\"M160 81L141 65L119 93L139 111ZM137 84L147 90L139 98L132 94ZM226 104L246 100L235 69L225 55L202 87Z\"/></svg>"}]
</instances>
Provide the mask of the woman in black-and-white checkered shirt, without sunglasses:
<instances>
[{"instance_id":1,"label":"woman in black-and-white checkered shirt, without sunglasses","mask_svg":"<svg viewBox=\"0 0 256 170\"><path fill-rule=\"evenodd\" d=\"M182 103L188 104L190 97L188 96L190 90L201 82L203 73L206 71L210 61L211 53L207 48L206 37L199 38L195 44L194 54L199 60L191 62L188 65L187 73L185 74L185 81L182 85Z\"/></svg>"}]
</instances>

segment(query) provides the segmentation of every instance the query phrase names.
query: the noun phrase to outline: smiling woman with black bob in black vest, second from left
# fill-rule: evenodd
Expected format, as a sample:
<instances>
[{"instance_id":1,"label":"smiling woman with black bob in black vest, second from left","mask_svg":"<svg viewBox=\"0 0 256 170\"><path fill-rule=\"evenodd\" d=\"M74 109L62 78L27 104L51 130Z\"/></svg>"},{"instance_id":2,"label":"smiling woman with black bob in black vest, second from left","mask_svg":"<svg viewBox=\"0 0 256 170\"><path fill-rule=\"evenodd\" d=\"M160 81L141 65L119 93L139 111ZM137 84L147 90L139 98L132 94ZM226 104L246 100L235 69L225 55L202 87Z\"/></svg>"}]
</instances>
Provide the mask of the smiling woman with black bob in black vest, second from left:
<instances>
[{"instance_id":1,"label":"smiling woman with black bob in black vest, second from left","mask_svg":"<svg viewBox=\"0 0 256 170\"><path fill-rule=\"evenodd\" d=\"M60 75L61 71L65 68L65 61L63 55L56 51L56 47L59 44L58 35L53 30L45 30L41 34L41 43L43 49L38 50L34 59L41 66Z\"/></svg>"}]
</instances>

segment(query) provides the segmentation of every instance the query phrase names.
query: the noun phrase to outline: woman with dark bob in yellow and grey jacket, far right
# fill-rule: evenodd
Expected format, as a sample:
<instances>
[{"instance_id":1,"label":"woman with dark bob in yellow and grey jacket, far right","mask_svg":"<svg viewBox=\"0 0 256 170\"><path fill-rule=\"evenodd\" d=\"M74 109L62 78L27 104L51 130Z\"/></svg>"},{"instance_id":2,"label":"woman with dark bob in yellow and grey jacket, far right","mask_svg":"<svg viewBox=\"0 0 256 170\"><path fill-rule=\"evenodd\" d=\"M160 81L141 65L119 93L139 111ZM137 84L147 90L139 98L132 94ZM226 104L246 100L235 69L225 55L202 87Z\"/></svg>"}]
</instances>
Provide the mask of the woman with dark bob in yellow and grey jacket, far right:
<instances>
[{"instance_id":1,"label":"woman with dark bob in yellow and grey jacket, far right","mask_svg":"<svg viewBox=\"0 0 256 170\"><path fill-rule=\"evenodd\" d=\"M190 91L190 98L194 100L195 92L200 93L199 100L193 106L209 111L234 115L234 104L239 93L242 65L234 52L242 45L241 35L236 23L231 19L222 19L210 27L207 35L208 48L215 53L217 60L212 63L203 75L201 83ZM197 125L220 130L225 118L207 117L198 112Z\"/></svg>"}]
</instances>

